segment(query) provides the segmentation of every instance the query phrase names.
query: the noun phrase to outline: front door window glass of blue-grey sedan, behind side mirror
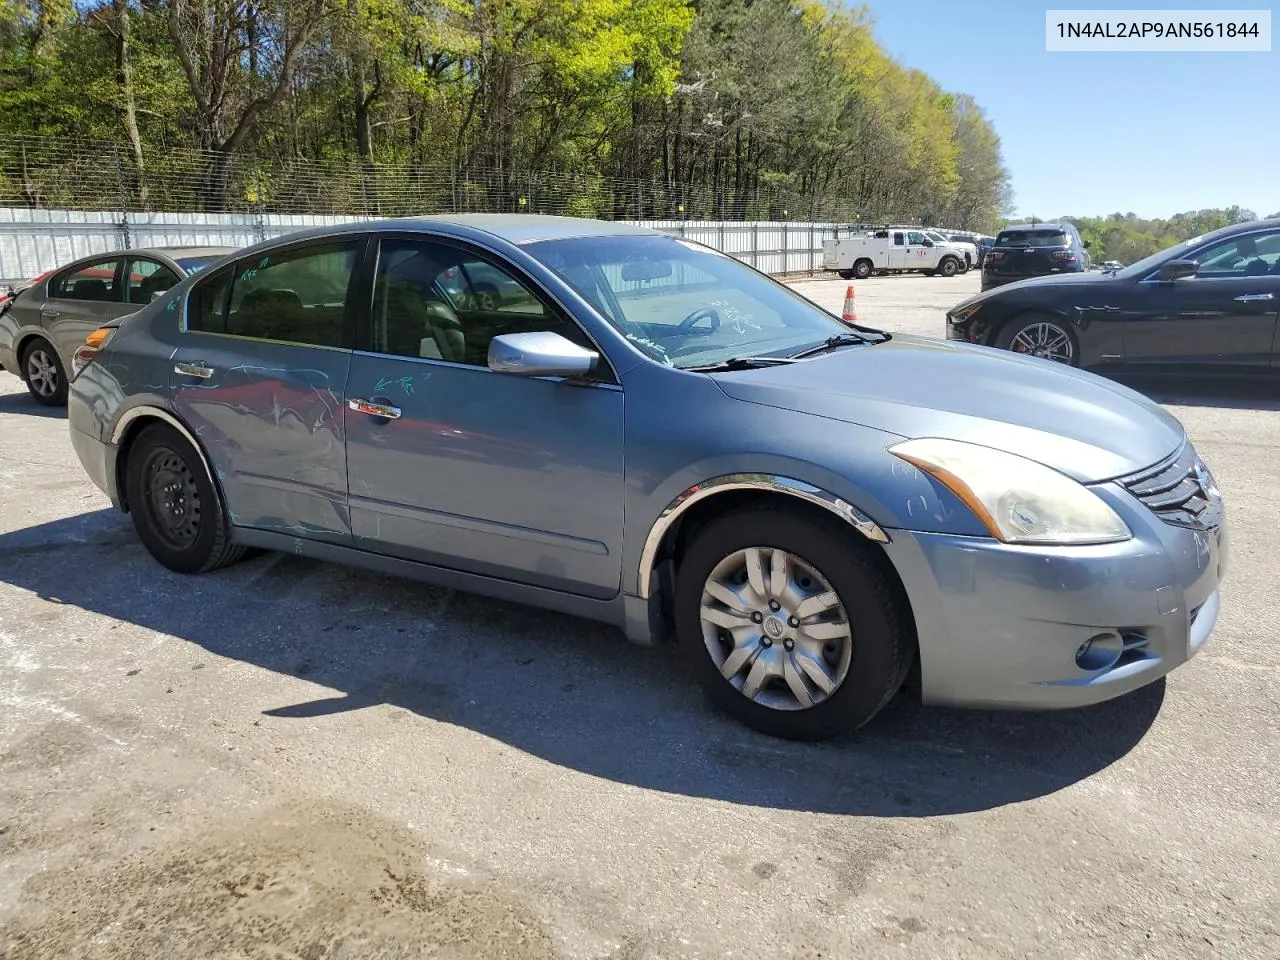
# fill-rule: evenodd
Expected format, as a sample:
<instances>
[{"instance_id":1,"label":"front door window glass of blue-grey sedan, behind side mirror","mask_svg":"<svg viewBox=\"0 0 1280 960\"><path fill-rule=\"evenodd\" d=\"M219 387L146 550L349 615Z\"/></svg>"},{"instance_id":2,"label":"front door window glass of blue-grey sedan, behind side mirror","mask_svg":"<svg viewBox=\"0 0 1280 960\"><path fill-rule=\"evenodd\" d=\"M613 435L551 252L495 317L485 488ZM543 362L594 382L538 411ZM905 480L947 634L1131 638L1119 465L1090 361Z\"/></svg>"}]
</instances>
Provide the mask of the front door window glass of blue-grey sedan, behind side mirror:
<instances>
[{"instance_id":1,"label":"front door window glass of blue-grey sedan, behind side mirror","mask_svg":"<svg viewBox=\"0 0 1280 960\"><path fill-rule=\"evenodd\" d=\"M379 353L471 366L488 366L489 343L502 334L549 330L582 340L506 270L424 239L383 241L372 320Z\"/></svg>"}]
</instances>

